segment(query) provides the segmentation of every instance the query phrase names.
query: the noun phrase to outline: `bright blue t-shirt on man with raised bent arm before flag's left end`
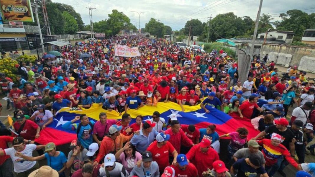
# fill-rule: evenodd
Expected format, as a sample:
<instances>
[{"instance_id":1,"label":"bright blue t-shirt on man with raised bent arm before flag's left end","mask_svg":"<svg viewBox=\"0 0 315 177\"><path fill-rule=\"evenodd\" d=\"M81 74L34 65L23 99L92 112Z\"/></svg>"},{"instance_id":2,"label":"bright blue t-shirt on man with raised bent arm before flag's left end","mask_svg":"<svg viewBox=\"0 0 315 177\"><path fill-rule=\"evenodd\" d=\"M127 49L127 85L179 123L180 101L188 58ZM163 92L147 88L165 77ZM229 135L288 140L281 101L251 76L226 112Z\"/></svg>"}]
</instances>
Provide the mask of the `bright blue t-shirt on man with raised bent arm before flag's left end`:
<instances>
[{"instance_id":1,"label":"bright blue t-shirt on man with raised bent arm before flag's left end","mask_svg":"<svg viewBox=\"0 0 315 177\"><path fill-rule=\"evenodd\" d=\"M90 123L92 123L92 125L95 124L95 122L92 120L90 120ZM77 128L79 128L79 123L72 123L71 121L69 121L63 124L62 128L77 131ZM77 134L78 140L86 149L89 149L90 144L93 143L92 129L93 127L91 127L90 124L87 124L85 126L81 125L80 131Z\"/></svg>"}]
</instances>

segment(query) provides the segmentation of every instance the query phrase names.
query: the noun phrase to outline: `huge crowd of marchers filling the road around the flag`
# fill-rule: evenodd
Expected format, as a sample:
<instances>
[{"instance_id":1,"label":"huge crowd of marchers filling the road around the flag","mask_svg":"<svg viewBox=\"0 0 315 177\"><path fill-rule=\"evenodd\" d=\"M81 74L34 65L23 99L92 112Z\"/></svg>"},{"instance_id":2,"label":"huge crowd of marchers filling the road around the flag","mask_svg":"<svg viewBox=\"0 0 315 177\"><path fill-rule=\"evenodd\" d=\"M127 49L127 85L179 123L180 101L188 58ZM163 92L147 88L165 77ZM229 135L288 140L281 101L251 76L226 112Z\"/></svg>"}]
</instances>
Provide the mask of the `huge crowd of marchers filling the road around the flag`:
<instances>
[{"instance_id":1,"label":"huge crowd of marchers filling the road around the flag","mask_svg":"<svg viewBox=\"0 0 315 177\"><path fill-rule=\"evenodd\" d=\"M115 56L115 44L138 47L140 56ZM254 55L242 83L238 61L223 49L202 52L164 39L114 36L57 50L62 56L20 62L16 78L0 73L6 108L14 109L11 131L0 124L0 177L272 177L277 171L285 177L288 164L301 170L296 176L315 176L315 163L305 163L306 149L315 155L315 145L306 147L314 136L315 86L296 66L279 78L272 58ZM244 126L219 135L215 124L181 124L176 114L169 121L158 111L147 120L128 114L163 102L181 111L198 105L205 113L212 106L249 119L260 133L249 138ZM34 142L61 108L92 104L116 111L121 120L103 111L96 122L85 114L66 122L62 128L77 133L68 154L54 142ZM224 137L230 142L220 146Z\"/></svg>"}]
</instances>

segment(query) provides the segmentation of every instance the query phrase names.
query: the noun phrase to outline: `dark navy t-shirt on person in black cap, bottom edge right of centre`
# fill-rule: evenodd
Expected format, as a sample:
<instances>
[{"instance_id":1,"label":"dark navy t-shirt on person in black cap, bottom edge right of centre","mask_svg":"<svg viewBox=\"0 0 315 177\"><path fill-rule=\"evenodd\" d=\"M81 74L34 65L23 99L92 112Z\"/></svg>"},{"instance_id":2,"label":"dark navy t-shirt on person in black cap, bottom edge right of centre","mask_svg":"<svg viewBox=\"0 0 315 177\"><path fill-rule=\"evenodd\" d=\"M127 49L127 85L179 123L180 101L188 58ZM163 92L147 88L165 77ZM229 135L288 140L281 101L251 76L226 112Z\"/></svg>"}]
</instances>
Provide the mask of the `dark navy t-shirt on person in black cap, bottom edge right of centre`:
<instances>
[{"instance_id":1,"label":"dark navy t-shirt on person in black cap, bottom edge right of centre","mask_svg":"<svg viewBox=\"0 0 315 177\"><path fill-rule=\"evenodd\" d=\"M232 167L238 170L237 177L256 177L257 174L265 174L266 170L262 166L253 168L246 163L244 158L238 159Z\"/></svg>"}]
</instances>

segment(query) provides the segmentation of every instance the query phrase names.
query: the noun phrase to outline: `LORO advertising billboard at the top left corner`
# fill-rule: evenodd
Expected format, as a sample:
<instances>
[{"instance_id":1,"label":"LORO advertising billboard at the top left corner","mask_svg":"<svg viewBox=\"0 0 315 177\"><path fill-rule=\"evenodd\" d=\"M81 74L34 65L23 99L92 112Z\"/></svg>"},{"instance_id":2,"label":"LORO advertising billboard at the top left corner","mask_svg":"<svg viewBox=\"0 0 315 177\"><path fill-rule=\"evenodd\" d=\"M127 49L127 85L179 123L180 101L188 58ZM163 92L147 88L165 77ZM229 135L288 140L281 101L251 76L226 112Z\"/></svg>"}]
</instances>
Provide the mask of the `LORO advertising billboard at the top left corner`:
<instances>
[{"instance_id":1,"label":"LORO advertising billboard at the top left corner","mask_svg":"<svg viewBox=\"0 0 315 177\"><path fill-rule=\"evenodd\" d=\"M30 0L0 0L3 21L34 22Z\"/></svg>"}]
</instances>

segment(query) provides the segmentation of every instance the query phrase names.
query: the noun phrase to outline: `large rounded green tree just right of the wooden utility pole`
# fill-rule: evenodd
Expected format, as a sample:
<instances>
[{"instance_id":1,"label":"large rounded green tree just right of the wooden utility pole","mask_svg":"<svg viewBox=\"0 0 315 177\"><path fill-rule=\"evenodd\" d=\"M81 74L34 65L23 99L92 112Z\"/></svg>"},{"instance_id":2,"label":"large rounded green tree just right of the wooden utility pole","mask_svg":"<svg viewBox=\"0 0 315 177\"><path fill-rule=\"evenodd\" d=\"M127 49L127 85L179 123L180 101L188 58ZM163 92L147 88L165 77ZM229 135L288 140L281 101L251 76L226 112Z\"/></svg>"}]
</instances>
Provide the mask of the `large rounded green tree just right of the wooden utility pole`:
<instances>
[{"instance_id":1,"label":"large rounded green tree just right of the wooden utility pole","mask_svg":"<svg viewBox=\"0 0 315 177\"><path fill-rule=\"evenodd\" d=\"M209 41L215 41L220 38L232 38L241 36L246 30L246 24L241 17L234 15L233 12L218 14L209 22L210 26L205 25L202 35L199 39L207 41L208 30Z\"/></svg>"}]
</instances>

